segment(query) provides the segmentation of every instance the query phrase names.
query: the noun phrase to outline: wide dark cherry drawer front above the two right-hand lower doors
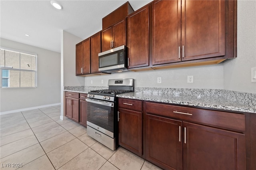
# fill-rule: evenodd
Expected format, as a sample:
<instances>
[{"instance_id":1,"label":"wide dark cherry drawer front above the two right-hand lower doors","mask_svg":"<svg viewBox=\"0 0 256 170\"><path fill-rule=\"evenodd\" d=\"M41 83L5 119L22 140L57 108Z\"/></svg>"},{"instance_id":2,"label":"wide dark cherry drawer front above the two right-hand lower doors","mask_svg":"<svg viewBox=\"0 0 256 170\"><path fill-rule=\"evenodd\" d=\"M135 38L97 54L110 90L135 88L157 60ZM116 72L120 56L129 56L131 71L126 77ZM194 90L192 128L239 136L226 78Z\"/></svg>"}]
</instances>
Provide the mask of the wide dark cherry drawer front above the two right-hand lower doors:
<instances>
[{"instance_id":1,"label":"wide dark cherry drawer front above the two right-hand lower doors","mask_svg":"<svg viewBox=\"0 0 256 170\"><path fill-rule=\"evenodd\" d=\"M146 113L245 131L245 115L146 102Z\"/></svg>"}]
</instances>

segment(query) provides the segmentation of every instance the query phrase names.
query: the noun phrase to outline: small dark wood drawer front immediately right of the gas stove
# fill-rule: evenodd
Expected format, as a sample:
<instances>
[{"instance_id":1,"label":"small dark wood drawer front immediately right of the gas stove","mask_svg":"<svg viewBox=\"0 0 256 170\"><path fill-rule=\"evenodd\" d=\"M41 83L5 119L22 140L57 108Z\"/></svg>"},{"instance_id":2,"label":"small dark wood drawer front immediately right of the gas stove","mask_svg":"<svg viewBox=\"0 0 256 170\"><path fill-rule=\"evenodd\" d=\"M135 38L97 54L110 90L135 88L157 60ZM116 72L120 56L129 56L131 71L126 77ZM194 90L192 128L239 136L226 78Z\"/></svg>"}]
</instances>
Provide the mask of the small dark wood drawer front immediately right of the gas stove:
<instances>
[{"instance_id":1,"label":"small dark wood drawer front immediately right of the gas stove","mask_svg":"<svg viewBox=\"0 0 256 170\"><path fill-rule=\"evenodd\" d=\"M131 99L118 99L118 107L142 111L142 101Z\"/></svg>"}]
</instances>

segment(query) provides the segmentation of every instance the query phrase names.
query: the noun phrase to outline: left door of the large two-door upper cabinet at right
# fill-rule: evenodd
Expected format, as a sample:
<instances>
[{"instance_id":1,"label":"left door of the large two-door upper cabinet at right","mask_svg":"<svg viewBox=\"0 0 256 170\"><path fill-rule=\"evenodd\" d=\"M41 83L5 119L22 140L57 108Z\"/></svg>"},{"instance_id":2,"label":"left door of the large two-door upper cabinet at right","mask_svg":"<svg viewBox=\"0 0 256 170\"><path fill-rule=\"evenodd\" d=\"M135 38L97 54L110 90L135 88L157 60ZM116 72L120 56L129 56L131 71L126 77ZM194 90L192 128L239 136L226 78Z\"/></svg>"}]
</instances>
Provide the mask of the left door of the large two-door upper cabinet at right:
<instances>
[{"instance_id":1,"label":"left door of the large two-door upper cabinet at right","mask_svg":"<svg viewBox=\"0 0 256 170\"><path fill-rule=\"evenodd\" d=\"M152 65L181 61L181 4L179 0L152 3Z\"/></svg>"}]
</instances>

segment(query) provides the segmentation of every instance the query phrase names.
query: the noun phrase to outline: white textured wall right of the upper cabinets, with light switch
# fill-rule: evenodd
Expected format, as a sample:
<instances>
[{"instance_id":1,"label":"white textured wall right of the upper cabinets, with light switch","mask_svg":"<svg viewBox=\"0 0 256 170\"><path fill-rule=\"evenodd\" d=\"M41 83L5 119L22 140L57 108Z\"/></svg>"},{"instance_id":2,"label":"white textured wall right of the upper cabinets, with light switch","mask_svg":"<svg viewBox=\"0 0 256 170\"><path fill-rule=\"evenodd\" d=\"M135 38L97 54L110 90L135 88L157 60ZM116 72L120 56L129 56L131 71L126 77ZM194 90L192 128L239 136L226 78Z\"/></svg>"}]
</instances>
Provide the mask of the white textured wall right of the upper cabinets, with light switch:
<instances>
[{"instance_id":1,"label":"white textured wall right of the upper cabinets, with light switch","mask_svg":"<svg viewBox=\"0 0 256 170\"><path fill-rule=\"evenodd\" d=\"M256 67L256 1L238 0L237 58L224 62L224 89L256 93L251 67Z\"/></svg>"}]
</instances>

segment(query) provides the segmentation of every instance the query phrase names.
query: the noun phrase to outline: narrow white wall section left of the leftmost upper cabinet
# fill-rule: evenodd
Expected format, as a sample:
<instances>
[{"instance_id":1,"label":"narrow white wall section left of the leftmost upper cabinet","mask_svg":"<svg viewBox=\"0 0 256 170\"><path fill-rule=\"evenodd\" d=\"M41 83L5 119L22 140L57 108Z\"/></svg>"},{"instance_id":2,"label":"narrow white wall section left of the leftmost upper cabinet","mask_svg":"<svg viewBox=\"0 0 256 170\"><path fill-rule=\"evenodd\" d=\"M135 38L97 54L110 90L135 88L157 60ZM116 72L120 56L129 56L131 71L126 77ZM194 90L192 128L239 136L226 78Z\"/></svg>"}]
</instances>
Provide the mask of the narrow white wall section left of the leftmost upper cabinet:
<instances>
[{"instance_id":1,"label":"narrow white wall section left of the leftmost upper cabinet","mask_svg":"<svg viewBox=\"0 0 256 170\"><path fill-rule=\"evenodd\" d=\"M83 86L84 77L76 76L76 44L82 39L63 31L64 86Z\"/></svg>"}]
</instances>

